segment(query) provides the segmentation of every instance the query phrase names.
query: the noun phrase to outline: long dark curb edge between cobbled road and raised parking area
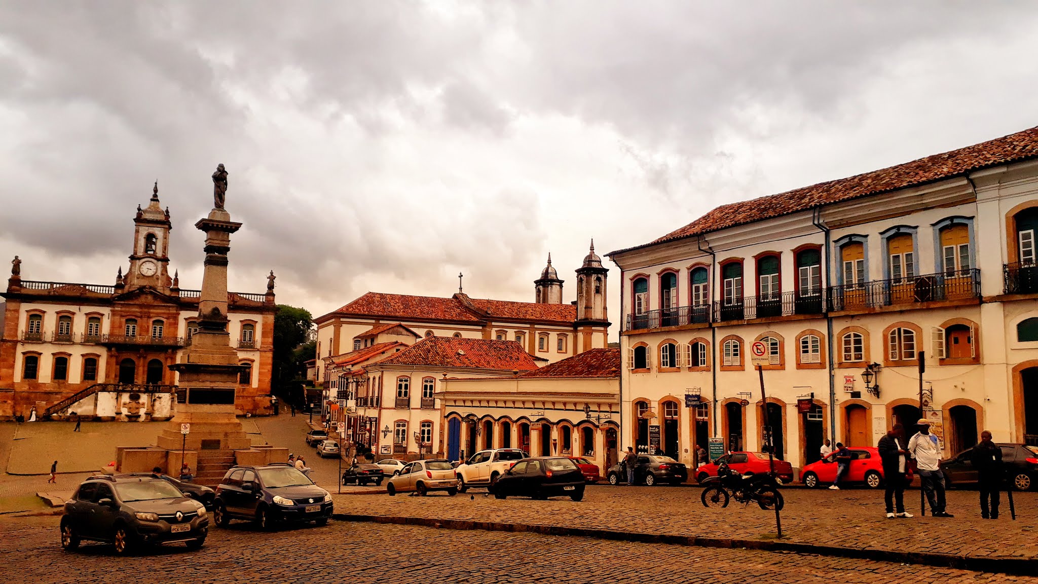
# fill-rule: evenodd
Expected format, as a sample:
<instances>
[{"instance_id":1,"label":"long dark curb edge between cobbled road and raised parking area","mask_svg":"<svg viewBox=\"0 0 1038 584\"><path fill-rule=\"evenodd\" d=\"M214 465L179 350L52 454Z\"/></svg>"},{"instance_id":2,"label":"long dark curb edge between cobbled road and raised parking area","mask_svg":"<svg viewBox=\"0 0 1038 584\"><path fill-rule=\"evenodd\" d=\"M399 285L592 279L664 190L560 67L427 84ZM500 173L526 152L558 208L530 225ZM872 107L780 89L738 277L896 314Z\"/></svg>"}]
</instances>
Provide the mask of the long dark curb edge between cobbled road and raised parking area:
<instances>
[{"instance_id":1,"label":"long dark curb edge between cobbled road and raised parking area","mask_svg":"<svg viewBox=\"0 0 1038 584\"><path fill-rule=\"evenodd\" d=\"M819 556L862 560L924 564L936 567L952 567L957 569L968 569L972 572L1009 574L1014 576L1032 576L1035 573L1038 573L1038 558L957 556L952 554L935 554L929 552L900 552L897 550L884 550L880 548L840 548L836 546L819 546L815 543L797 543L792 541L732 539L723 537L701 537L695 535L667 535L661 533L638 533L634 531L612 531L607 529L583 527L476 522L436 517L332 513L332 519L342 522L412 525L439 529L479 529L484 531L530 532L541 533L544 535L594 537L597 539L634 541L638 543L666 543L671 546L700 548L747 549L762 552L793 552L797 554L815 554Z\"/></svg>"}]
</instances>

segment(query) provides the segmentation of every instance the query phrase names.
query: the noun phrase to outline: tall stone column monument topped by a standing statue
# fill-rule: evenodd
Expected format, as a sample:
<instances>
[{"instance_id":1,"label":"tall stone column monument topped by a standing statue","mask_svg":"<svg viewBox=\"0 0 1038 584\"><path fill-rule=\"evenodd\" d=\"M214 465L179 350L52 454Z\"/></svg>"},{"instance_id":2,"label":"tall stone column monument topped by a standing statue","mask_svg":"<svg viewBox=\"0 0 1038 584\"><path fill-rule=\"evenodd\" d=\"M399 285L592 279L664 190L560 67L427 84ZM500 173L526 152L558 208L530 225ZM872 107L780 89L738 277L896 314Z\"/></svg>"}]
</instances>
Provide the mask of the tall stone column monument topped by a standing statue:
<instances>
[{"instance_id":1,"label":"tall stone column monument topped by a standing statue","mask_svg":"<svg viewBox=\"0 0 1038 584\"><path fill-rule=\"evenodd\" d=\"M244 367L238 364L238 352L230 347L227 333L227 251L230 234L242 223L231 221L223 208L226 191L227 172L220 164L213 172L213 210L195 223L206 232L198 330L192 336L182 362L169 366L180 373L176 412L158 440L160 448L177 451L177 455L182 448L228 451L251 446L235 416L235 389ZM181 432L184 423L191 425L187 434Z\"/></svg>"}]
</instances>

